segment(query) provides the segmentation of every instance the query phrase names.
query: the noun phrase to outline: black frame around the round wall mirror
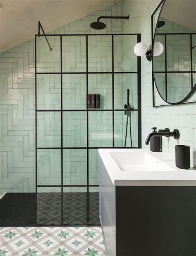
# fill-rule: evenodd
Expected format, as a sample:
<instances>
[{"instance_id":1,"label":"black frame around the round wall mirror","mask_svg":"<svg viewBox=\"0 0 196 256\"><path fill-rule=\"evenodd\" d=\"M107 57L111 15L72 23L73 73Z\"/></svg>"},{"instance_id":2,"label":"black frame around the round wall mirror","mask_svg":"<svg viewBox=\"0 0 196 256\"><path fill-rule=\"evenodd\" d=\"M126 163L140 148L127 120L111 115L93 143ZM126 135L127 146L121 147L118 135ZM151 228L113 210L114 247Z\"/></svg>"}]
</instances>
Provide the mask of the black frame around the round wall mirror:
<instances>
[{"instance_id":1,"label":"black frame around the round wall mirror","mask_svg":"<svg viewBox=\"0 0 196 256\"><path fill-rule=\"evenodd\" d=\"M191 95L196 91L196 84L193 86L192 90L186 95L186 97L185 97L183 100L180 100L179 102L171 103L171 102L168 102L167 100L165 100L165 99L160 95L159 90L158 90L157 85L156 85L156 82L155 82L155 76L154 76L154 71L153 71L153 47L154 47L154 42L155 42L154 39L155 39L155 32L156 32L156 30L157 30L158 20L159 20L159 18L160 18L161 12L162 12L162 10L163 10L165 1L166 1L166 0L161 0L160 4L158 5L158 7L155 9L155 11L153 12L153 14L151 15L153 107L163 107L163 106L169 106L169 105L188 104L188 103L194 103L194 102L196 102L196 101L189 101L189 102L186 102L186 100L188 100L188 99L191 97ZM161 6L161 5L162 5L162 6ZM160 8L160 7L161 7L161 8ZM158 20L157 20L156 27L155 27L155 31L154 31L154 21L153 21L153 18L154 18L154 15L155 15L155 13L158 11L159 8L160 8L160 12L159 12L159 15L158 15ZM165 101L167 104L155 106L155 88L156 88L156 90L158 91L158 94L159 94L160 98L162 98L162 100Z\"/></svg>"}]
</instances>

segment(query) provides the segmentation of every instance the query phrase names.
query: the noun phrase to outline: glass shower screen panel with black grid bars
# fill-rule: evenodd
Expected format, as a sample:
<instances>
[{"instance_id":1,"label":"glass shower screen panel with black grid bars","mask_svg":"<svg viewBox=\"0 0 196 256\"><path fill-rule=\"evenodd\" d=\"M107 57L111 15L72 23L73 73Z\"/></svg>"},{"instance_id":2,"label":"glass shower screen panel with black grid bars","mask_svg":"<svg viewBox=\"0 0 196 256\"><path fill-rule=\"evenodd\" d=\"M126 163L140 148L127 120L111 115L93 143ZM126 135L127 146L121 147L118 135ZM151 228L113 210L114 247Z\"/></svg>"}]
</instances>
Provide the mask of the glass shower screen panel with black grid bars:
<instances>
[{"instance_id":1,"label":"glass shower screen panel with black grid bars","mask_svg":"<svg viewBox=\"0 0 196 256\"><path fill-rule=\"evenodd\" d=\"M99 224L99 148L141 148L140 34L35 35L37 224ZM100 108L88 108L100 94ZM131 147L127 132L126 147ZM46 209L46 210L44 210Z\"/></svg>"}]
</instances>

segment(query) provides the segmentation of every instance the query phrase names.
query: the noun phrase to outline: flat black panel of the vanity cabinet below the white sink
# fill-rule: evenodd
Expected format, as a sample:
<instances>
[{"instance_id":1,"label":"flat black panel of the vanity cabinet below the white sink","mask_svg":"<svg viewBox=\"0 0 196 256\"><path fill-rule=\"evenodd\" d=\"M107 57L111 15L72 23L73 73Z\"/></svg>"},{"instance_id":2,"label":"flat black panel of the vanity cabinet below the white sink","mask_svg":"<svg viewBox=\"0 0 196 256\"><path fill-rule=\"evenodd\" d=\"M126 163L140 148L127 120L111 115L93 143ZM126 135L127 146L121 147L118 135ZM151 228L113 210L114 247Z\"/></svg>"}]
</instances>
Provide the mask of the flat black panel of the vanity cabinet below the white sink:
<instances>
[{"instance_id":1,"label":"flat black panel of the vanity cabinet below the white sink","mask_svg":"<svg viewBox=\"0 0 196 256\"><path fill-rule=\"evenodd\" d=\"M196 187L116 186L116 256L195 255Z\"/></svg>"}]
</instances>

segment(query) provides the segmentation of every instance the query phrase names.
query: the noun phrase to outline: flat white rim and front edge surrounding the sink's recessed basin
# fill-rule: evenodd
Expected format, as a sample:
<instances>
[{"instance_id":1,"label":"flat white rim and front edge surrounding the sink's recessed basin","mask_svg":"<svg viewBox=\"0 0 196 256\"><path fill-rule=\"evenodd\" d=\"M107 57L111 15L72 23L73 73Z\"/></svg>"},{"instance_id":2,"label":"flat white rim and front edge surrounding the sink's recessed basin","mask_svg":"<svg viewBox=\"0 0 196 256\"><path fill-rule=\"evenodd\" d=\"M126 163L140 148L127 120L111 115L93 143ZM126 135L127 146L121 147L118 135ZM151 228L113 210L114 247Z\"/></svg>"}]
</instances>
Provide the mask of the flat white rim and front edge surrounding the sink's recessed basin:
<instances>
[{"instance_id":1,"label":"flat white rim and front edge surrounding the sink's recessed basin","mask_svg":"<svg viewBox=\"0 0 196 256\"><path fill-rule=\"evenodd\" d=\"M168 171L143 171L143 172L122 172L115 163L109 152L129 152L133 150L146 151L168 166L174 168L173 172ZM108 171L110 179L115 186L196 186L196 168L188 170L179 169L175 166L175 158L166 153L154 153L149 149L98 149L99 155ZM125 178L124 176L129 176ZM131 176L132 175L132 176ZM131 176L131 178L130 178Z\"/></svg>"}]
</instances>

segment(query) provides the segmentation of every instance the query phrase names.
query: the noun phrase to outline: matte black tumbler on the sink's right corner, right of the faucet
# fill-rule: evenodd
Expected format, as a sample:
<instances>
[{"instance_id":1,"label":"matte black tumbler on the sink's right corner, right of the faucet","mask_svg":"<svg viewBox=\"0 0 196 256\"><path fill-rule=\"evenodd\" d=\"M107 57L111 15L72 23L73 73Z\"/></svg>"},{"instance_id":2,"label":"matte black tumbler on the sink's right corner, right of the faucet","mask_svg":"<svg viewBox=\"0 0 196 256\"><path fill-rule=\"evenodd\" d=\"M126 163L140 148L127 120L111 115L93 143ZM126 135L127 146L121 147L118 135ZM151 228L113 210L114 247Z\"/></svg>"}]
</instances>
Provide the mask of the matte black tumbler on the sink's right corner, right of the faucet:
<instances>
[{"instance_id":1,"label":"matte black tumbler on the sink's right corner, right of the faucet","mask_svg":"<svg viewBox=\"0 0 196 256\"><path fill-rule=\"evenodd\" d=\"M176 167L180 169L190 168L190 146L176 145Z\"/></svg>"}]
</instances>

